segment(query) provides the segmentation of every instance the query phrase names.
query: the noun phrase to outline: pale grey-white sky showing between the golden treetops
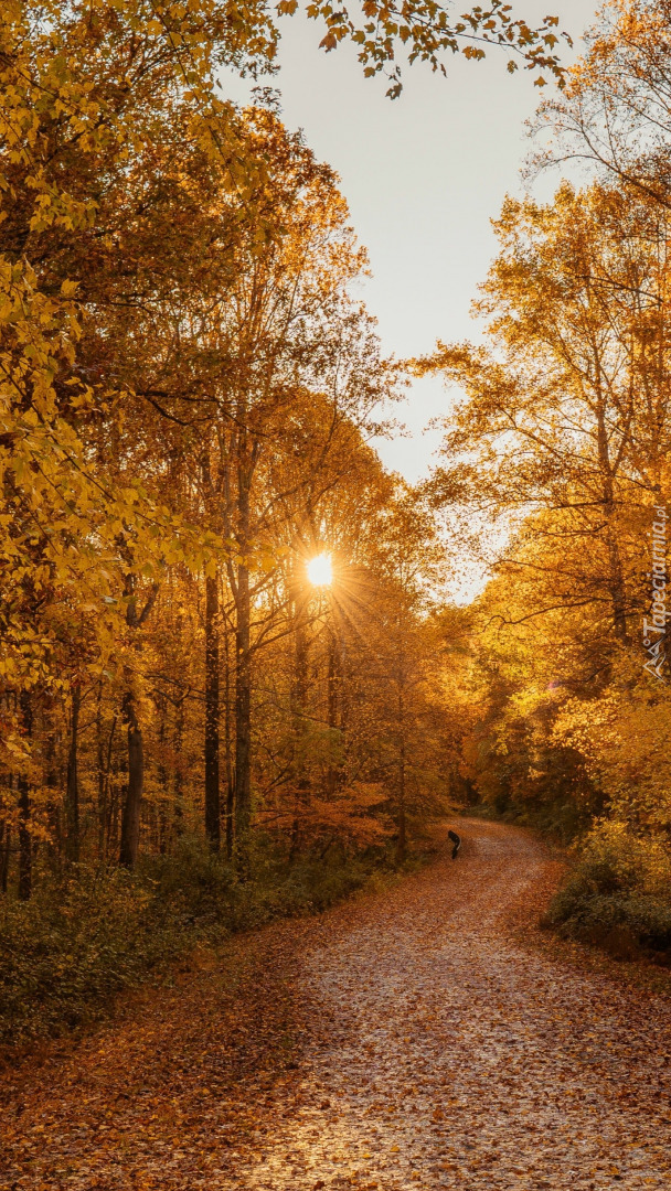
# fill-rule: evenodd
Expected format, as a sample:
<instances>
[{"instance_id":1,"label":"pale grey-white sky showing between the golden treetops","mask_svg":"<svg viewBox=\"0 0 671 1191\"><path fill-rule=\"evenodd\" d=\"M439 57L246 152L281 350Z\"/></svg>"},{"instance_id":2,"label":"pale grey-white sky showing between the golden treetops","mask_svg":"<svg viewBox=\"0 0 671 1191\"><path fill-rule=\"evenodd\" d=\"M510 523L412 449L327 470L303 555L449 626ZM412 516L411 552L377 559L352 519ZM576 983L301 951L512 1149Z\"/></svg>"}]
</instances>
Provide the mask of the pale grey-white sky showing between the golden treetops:
<instances>
[{"instance_id":1,"label":"pale grey-white sky showing between the golden treetops","mask_svg":"<svg viewBox=\"0 0 671 1191\"><path fill-rule=\"evenodd\" d=\"M558 15L578 44L595 8L594 0L515 4L529 24L546 12ZM530 148L524 123L540 89L522 69L510 75L505 55L492 48L484 62L451 58L447 79L421 63L408 67L392 101L383 76L364 79L353 46L319 49L316 21L296 15L280 27L281 69L268 82L281 93L287 127L303 129L340 175L369 254L373 276L362 297L384 350L408 357L429 353L436 338L477 337L470 307L496 254L490 220L507 193L522 193L520 167ZM248 95L232 76L224 91L236 100ZM414 382L392 411L405 434L375 442L387 467L410 482L428 474L441 431L427 426L445 417L449 401L439 378Z\"/></svg>"}]
</instances>

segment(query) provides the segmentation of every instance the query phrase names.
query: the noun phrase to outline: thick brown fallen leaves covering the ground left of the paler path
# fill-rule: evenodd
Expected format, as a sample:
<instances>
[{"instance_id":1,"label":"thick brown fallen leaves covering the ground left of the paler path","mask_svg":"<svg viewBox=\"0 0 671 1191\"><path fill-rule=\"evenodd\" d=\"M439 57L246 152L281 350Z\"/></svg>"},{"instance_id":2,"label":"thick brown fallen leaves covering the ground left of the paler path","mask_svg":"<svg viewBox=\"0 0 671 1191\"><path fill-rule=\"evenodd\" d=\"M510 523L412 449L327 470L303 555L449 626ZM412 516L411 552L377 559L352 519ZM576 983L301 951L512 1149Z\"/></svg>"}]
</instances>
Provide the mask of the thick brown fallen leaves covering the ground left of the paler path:
<instances>
[{"instance_id":1,"label":"thick brown fallen leaves covering the ground left of the paler path","mask_svg":"<svg viewBox=\"0 0 671 1191\"><path fill-rule=\"evenodd\" d=\"M0 1187L226 1185L266 1105L296 1078L300 924L194 955L124 1019L46 1047L0 1085ZM2 1177L4 1176L4 1177Z\"/></svg>"}]
</instances>

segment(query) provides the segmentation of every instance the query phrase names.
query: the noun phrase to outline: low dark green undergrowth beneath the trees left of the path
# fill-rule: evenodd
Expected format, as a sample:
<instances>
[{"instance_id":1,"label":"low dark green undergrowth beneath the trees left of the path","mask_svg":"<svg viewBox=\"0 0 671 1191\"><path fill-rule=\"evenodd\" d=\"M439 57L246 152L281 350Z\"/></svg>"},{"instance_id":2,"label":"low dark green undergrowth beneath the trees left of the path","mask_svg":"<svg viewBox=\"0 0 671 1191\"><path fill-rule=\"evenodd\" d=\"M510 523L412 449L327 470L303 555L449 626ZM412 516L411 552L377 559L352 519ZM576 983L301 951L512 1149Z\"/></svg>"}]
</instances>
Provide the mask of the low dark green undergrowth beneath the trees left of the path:
<instances>
[{"instance_id":1,"label":"low dark green undergrowth beneath the trees left of the path","mask_svg":"<svg viewBox=\"0 0 671 1191\"><path fill-rule=\"evenodd\" d=\"M197 942L288 915L321 911L384 867L383 853L294 865L260 849L254 877L185 836L136 875L85 865L46 880L30 902L0 898L0 1042L57 1034Z\"/></svg>"}]
</instances>

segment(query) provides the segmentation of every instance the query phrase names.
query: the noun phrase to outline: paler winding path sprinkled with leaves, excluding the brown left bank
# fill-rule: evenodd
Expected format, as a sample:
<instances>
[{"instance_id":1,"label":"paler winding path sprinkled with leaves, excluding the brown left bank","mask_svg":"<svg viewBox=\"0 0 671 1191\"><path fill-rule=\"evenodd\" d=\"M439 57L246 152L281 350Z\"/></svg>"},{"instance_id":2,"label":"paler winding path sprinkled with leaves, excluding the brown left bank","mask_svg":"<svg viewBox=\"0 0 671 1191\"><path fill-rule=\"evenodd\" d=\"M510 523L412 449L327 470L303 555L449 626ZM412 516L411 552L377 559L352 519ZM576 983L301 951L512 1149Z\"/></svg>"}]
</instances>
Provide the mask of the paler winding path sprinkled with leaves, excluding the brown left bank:
<instances>
[{"instance_id":1,"label":"paler winding path sprinkled with leaves, excluding the brown left bank","mask_svg":"<svg viewBox=\"0 0 671 1191\"><path fill-rule=\"evenodd\" d=\"M459 830L455 863L324 917L302 1095L249 1191L671 1189L669 1002L524 946L545 849Z\"/></svg>"}]
</instances>

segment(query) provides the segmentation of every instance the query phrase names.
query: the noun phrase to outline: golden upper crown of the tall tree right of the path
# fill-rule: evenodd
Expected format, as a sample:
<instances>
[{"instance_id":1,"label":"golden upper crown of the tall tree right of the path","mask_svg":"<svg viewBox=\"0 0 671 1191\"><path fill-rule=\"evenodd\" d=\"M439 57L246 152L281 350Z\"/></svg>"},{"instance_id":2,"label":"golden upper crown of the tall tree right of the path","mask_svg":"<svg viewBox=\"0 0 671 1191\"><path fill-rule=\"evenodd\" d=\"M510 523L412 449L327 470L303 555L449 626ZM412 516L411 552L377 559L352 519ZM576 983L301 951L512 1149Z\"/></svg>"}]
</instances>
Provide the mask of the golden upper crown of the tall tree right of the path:
<instances>
[{"instance_id":1,"label":"golden upper crown of the tall tree right of the path","mask_svg":"<svg viewBox=\"0 0 671 1191\"><path fill-rule=\"evenodd\" d=\"M498 565L526 572L529 615L590 609L604 656L607 609L628 638L666 468L666 226L621 191L564 186L546 207L508 200L497 230L478 307L496 354L441 345L418 364L468 393L434 499L505 519Z\"/></svg>"}]
</instances>

